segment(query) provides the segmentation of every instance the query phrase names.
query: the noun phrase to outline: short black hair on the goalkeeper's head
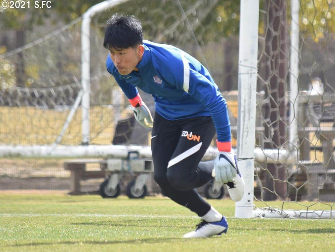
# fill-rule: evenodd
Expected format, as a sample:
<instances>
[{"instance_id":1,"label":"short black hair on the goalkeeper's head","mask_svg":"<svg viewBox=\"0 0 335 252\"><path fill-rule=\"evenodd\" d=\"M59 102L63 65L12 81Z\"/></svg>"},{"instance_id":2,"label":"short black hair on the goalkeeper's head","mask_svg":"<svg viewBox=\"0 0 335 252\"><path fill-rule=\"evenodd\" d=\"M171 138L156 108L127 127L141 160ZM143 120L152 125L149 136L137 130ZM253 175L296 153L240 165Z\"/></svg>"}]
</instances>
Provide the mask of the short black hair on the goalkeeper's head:
<instances>
[{"instance_id":1,"label":"short black hair on the goalkeeper's head","mask_svg":"<svg viewBox=\"0 0 335 252\"><path fill-rule=\"evenodd\" d=\"M135 16L114 14L106 22L104 47L123 49L143 44L142 24Z\"/></svg>"}]
</instances>

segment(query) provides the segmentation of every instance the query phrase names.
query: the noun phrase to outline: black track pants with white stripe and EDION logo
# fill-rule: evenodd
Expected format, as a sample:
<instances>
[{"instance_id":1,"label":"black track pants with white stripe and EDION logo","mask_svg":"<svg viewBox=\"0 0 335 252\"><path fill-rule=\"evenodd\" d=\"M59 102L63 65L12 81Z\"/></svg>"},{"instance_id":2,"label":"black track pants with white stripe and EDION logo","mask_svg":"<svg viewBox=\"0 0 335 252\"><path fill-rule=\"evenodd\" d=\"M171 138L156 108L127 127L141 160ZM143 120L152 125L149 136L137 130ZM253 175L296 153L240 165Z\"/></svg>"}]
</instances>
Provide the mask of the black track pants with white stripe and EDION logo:
<instances>
[{"instance_id":1,"label":"black track pants with white stripe and EDION logo","mask_svg":"<svg viewBox=\"0 0 335 252\"><path fill-rule=\"evenodd\" d=\"M210 116L171 121L155 113L151 133L154 179L163 195L199 216L210 209L195 188L212 179L213 161L200 160L214 134Z\"/></svg>"}]
</instances>

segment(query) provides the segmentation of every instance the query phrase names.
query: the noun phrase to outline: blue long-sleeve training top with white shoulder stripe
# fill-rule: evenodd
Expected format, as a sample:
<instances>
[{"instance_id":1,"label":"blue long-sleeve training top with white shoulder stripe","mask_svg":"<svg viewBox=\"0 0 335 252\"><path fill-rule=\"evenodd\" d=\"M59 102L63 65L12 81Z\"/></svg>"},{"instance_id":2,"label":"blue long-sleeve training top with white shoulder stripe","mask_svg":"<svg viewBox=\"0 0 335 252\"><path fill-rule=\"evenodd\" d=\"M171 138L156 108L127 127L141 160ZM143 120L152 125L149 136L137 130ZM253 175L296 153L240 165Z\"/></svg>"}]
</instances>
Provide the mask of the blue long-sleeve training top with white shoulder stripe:
<instances>
[{"instance_id":1,"label":"blue long-sleeve training top with white shoulder stripe","mask_svg":"<svg viewBox=\"0 0 335 252\"><path fill-rule=\"evenodd\" d=\"M231 140L227 103L208 70L182 51L166 44L143 40L144 54L139 71L121 75L108 55L106 66L128 99L137 87L152 95L158 114L168 120L212 116L217 140Z\"/></svg>"}]
</instances>

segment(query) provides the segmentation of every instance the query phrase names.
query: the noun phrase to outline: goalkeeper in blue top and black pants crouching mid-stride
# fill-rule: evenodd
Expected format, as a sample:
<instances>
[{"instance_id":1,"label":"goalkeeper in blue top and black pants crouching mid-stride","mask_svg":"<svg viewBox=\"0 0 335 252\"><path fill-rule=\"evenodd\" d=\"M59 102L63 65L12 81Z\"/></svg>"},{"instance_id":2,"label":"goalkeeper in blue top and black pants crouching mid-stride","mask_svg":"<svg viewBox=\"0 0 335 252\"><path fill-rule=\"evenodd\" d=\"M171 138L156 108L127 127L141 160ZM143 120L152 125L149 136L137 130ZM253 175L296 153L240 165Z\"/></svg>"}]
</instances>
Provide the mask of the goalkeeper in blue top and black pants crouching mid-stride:
<instances>
[{"instance_id":1,"label":"goalkeeper in blue top and black pants crouching mid-stride","mask_svg":"<svg viewBox=\"0 0 335 252\"><path fill-rule=\"evenodd\" d=\"M224 216L195 190L213 176L226 183L230 197L241 200L244 182L231 152L227 104L207 69L186 52L143 40L134 16L113 15L106 25L104 47L110 50L107 70L114 76L136 120L152 127L154 179L163 195L195 212L201 223L184 238L226 233ZM152 95L155 116L137 88ZM215 131L219 150L215 161L200 162Z\"/></svg>"}]
</instances>

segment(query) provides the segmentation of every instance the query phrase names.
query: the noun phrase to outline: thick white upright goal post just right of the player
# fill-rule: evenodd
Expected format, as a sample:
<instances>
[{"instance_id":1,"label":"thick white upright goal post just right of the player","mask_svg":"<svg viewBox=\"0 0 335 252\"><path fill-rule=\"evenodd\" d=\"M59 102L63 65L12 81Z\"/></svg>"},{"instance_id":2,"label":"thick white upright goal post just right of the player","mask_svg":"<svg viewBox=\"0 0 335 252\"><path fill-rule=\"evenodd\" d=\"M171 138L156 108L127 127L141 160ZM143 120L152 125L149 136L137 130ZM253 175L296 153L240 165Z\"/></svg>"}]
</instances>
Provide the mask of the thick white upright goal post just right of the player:
<instances>
[{"instance_id":1,"label":"thick white upright goal post just right of the player","mask_svg":"<svg viewBox=\"0 0 335 252\"><path fill-rule=\"evenodd\" d=\"M245 180L235 217L250 218L254 208L257 47L259 0L241 0L237 160Z\"/></svg>"}]
</instances>

